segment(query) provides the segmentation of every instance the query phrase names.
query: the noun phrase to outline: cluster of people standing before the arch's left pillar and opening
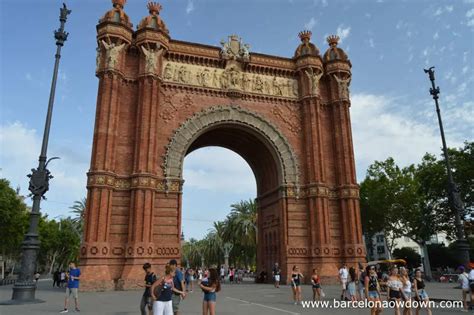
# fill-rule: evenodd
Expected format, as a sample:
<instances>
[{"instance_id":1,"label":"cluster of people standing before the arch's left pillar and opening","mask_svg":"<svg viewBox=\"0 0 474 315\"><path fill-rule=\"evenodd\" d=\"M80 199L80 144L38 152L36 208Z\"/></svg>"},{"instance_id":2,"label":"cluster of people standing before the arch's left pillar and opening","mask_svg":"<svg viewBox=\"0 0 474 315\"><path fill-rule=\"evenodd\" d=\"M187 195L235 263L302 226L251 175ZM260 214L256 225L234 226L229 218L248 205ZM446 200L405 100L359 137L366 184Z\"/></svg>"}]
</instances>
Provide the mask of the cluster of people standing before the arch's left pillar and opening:
<instances>
[{"instance_id":1,"label":"cluster of people standing before the arch's left pillar and opening","mask_svg":"<svg viewBox=\"0 0 474 315\"><path fill-rule=\"evenodd\" d=\"M165 274L158 277L153 273L151 264L143 265L145 281L141 286L145 287L140 310L142 315L179 315L179 305L186 298L186 292L193 288L194 276L197 274L199 287L204 293L202 312L207 315L215 314L216 293L220 291L220 280L217 269L211 268L202 271L188 269L186 271L178 268L175 259L170 260L165 266ZM183 275L184 271L184 275Z\"/></svg>"}]
</instances>

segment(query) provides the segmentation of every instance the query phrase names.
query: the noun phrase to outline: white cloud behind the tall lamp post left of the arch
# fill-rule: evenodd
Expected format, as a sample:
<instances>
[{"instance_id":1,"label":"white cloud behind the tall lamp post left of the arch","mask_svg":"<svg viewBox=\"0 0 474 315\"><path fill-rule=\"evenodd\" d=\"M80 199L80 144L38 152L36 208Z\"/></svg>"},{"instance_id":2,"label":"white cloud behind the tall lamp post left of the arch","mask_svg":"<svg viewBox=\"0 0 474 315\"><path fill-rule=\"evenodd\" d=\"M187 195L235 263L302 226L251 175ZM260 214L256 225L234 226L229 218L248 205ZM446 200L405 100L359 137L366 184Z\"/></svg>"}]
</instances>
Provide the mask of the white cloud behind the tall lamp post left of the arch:
<instances>
[{"instance_id":1,"label":"white cloud behind the tall lamp post left of the arch","mask_svg":"<svg viewBox=\"0 0 474 315\"><path fill-rule=\"evenodd\" d=\"M29 194L26 175L38 166L41 140L42 136L35 129L28 128L21 122L0 125L0 177L8 179L12 187L19 186L23 195ZM83 151L90 152L89 149L85 148ZM42 211L50 217L70 215L69 206L86 195L89 156L67 148L58 148L50 141L48 158L53 156L61 159L48 166L54 178L50 180L47 200L41 203ZM31 204L30 199L26 201Z\"/></svg>"}]
</instances>

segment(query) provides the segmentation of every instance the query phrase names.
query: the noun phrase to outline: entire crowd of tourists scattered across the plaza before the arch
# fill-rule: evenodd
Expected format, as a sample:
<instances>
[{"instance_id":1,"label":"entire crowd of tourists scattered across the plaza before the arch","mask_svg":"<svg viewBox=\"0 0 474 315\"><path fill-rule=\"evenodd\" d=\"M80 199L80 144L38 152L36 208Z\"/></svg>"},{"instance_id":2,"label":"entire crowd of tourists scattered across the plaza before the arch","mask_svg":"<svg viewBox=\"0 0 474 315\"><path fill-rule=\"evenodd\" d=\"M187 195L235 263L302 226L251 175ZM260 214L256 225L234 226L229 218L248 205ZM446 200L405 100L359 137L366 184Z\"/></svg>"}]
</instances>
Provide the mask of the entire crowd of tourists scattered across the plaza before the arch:
<instances>
[{"instance_id":1,"label":"entire crowd of tourists scattered across the plaza before the arch","mask_svg":"<svg viewBox=\"0 0 474 315\"><path fill-rule=\"evenodd\" d=\"M203 293L202 313L204 315L214 315L216 313L216 293L221 289L221 282L228 279L229 283L241 283L244 275L249 271L241 268L230 267L228 269L220 268L179 268L176 260L172 259L165 266L164 275L158 276L152 271L150 263L143 265L145 278L139 286L145 288L140 302L142 315L179 315L180 302L186 298L189 292L199 288ZM474 292L474 269L468 273L463 266L459 267L459 279L462 288L462 299L464 311L470 306L467 302L470 296L470 304L473 302ZM63 276L64 274L64 276ZM66 286L66 296L64 300L64 309L61 313L68 312L69 299L74 298L75 311L79 312L78 288L81 271L71 262L69 269L64 272L59 270L54 274L53 286ZM282 271L275 263L272 269L272 278L275 288L280 287ZM39 278L39 276L38 276ZM323 277L324 278L324 277ZM64 280L63 280L64 279ZM299 266L294 265L292 271L288 274L287 283L290 284L294 304L301 304L302 284L305 275L301 272ZM63 283L64 282L64 283ZM309 275L311 282L313 301L321 300L325 297L322 287L321 276L318 269L312 269ZM357 267L349 267L344 264L339 269L339 282L341 285L341 300L345 301L372 301L373 307L370 310L371 315L382 312L382 290L386 291L386 299L394 301L395 315L412 315L413 303L408 301L417 301L424 303L415 303L413 307L416 315L421 311L421 307L431 315L429 308L429 296L426 291L426 284L420 269L409 271L405 267L393 265L388 272L382 272L378 266L368 265L365 268L361 264ZM400 301L404 301L404 306L399 306ZM403 308L403 309L400 309Z\"/></svg>"}]
</instances>

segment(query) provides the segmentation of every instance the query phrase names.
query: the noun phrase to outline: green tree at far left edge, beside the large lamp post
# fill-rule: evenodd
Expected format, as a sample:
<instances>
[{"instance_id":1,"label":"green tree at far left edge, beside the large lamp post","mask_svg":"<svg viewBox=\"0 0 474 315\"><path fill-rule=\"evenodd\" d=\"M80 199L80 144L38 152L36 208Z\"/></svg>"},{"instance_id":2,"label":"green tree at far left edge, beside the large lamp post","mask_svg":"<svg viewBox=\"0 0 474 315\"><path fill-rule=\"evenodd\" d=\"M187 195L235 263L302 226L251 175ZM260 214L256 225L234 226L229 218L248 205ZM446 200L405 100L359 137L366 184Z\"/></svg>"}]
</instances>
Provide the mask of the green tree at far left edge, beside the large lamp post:
<instances>
[{"instance_id":1,"label":"green tree at far left edge, beside the large lamp post","mask_svg":"<svg viewBox=\"0 0 474 315\"><path fill-rule=\"evenodd\" d=\"M28 228L28 211L6 179L0 179L0 253L14 268Z\"/></svg>"}]
</instances>

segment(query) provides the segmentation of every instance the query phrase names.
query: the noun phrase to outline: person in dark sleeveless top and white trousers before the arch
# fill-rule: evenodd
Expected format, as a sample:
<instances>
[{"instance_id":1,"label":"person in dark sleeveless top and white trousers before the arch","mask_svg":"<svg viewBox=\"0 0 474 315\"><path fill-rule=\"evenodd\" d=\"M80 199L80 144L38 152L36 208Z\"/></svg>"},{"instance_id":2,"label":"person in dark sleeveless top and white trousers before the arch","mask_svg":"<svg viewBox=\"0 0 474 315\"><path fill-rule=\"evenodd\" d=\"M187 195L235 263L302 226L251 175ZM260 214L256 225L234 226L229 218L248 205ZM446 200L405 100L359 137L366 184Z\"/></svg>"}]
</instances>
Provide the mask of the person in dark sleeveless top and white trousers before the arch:
<instances>
[{"instance_id":1,"label":"person in dark sleeveless top and white trousers before the arch","mask_svg":"<svg viewBox=\"0 0 474 315\"><path fill-rule=\"evenodd\" d=\"M173 315L173 293L185 297L186 293L175 287L174 276L176 266L167 264L165 266L165 276L155 281L150 288L153 299L153 315Z\"/></svg>"}]
</instances>

